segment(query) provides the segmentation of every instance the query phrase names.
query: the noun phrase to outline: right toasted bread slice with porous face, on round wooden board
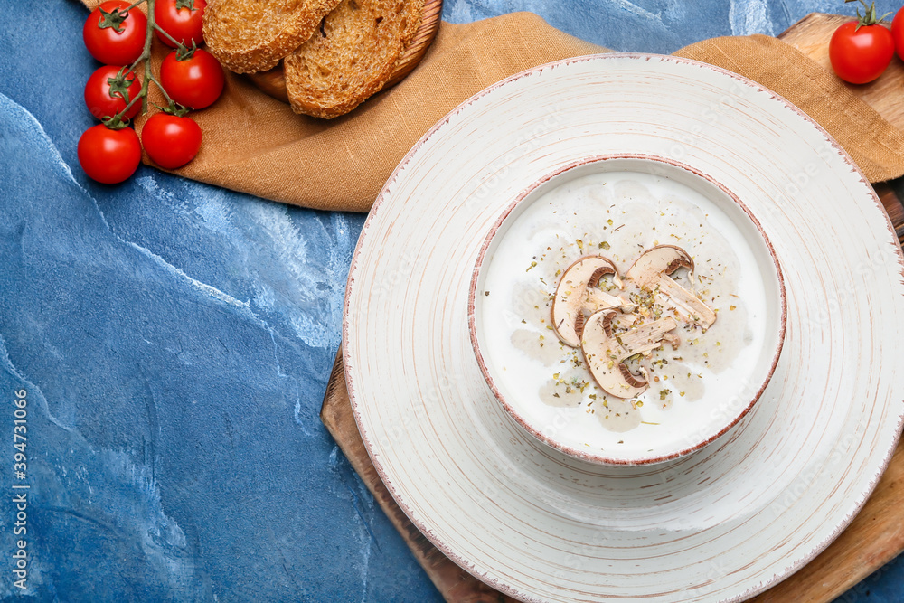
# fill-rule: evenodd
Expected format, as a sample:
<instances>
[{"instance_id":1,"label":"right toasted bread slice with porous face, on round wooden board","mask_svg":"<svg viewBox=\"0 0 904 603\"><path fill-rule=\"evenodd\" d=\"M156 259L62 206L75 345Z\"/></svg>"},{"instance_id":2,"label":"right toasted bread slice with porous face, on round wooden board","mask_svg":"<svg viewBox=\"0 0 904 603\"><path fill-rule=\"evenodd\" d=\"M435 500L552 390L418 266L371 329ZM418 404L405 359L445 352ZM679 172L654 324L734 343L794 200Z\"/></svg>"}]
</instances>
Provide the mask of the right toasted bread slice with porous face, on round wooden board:
<instances>
[{"instance_id":1,"label":"right toasted bread slice with porous face, on round wooden board","mask_svg":"<svg viewBox=\"0 0 904 603\"><path fill-rule=\"evenodd\" d=\"M292 108L335 118L379 92L423 13L424 0L342 0L283 62Z\"/></svg>"}]
</instances>

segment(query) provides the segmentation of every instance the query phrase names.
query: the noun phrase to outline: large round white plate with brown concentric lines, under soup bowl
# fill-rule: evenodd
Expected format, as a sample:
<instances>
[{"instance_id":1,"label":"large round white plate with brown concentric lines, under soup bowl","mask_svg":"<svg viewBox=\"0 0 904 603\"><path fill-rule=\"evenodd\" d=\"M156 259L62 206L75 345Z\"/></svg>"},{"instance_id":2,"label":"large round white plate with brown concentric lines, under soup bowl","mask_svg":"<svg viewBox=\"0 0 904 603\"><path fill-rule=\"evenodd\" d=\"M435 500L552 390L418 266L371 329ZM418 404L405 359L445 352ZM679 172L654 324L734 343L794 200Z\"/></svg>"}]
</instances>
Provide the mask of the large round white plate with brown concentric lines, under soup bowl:
<instances>
[{"instance_id":1,"label":"large round white plate with brown concentric lines, under soup bowl","mask_svg":"<svg viewBox=\"0 0 904 603\"><path fill-rule=\"evenodd\" d=\"M468 341L485 232L590 155L670 157L745 200L785 276L767 390L725 438L657 466L590 466L523 434ZM392 175L345 301L350 398L374 466L441 551L523 600L740 600L833 540L899 435L902 260L880 203L774 93L693 61L599 55L469 99Z\"/></svg>"}]
</instances>

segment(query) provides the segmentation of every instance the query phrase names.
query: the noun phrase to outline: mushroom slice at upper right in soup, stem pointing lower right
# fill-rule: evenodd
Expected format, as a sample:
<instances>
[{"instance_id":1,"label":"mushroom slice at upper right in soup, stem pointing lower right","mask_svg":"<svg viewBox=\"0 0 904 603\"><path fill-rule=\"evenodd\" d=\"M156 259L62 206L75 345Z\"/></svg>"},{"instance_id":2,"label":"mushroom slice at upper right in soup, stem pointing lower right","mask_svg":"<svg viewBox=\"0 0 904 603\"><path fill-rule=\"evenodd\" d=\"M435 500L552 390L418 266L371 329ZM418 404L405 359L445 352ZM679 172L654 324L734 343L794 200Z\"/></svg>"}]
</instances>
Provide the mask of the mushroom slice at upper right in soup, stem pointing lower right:
<instances>
[{"instance_id":1,"label":"mushroom slice at upper right in soup, stem pointing lower right","mask_svg":"<svg viewBox=\"0 0 904 603\"><path fill-rule=\"evenodd\" d=\"M674 245L659 245L646 250L634 265L628 269L627 277L632 279L637 287L645 288L658 293L669 306L672 306L687 319L708 329L716 321L716 314L669 275L675 270L686 268L693 273L693 259L687 251Z\"/></svg>"}]
</instances>

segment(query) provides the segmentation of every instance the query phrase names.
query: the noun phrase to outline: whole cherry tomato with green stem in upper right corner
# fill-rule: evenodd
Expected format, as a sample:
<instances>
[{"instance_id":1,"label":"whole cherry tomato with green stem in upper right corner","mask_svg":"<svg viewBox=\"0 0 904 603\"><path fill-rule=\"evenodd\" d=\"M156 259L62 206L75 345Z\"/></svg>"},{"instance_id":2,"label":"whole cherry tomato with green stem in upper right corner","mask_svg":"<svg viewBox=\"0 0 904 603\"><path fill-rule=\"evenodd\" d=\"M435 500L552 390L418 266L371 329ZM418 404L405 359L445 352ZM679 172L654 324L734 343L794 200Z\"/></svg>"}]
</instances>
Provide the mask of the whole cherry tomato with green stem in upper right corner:
<instances>
[{"instance_id":1,"label":"whole cherry tomato with green stem in upper right corner","mask_svg":"<svg viewBox=\"0 0 904 603\"><path fill-rule=\"evenodd\" d=\"M895 54L891 32L882 25L857 22L841 25L829 41L829 60L838 77L852 84L865 84L878 78Z\"/></svg>"}]
</instances>

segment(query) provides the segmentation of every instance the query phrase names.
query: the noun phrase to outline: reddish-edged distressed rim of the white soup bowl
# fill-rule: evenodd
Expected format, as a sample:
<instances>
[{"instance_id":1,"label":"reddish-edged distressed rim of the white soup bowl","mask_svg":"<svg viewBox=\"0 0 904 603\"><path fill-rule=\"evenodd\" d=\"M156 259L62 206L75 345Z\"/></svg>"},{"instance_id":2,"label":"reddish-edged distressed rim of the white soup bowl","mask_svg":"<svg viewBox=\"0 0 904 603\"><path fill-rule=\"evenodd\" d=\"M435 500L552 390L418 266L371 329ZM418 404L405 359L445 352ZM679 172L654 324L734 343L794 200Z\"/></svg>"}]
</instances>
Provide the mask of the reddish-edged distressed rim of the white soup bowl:
<instances>
[{"instance_id":1,"label":"reddish-edged distressed rim of the white soup bowl","mask_svg":"<svg viewBox=\"0 0 904 603\"><path fill-rule=\"evenodd\" d=\"M747 404L742 406L738 412L734 414L730 414L725 417L725 422L716 433L712 435L707 435L704 438L701 438L700 441L693 443L691 446L686 448L682 448L678 451L671 452L668 454L647 454L643 456L632 456L632 457L617 457L610 454L598 454L593 452L588 452L587 449L574 448L573 446L569 446L561 442L558 438L552 438L549 435L543 433L542 429L539 426L536 426L530 421L523 417L521 413L518 412L516 405L513 404L511 400L506 400L503 392L500 391L499 386L496 384L493 370L487 365L484 354L480 349L480 336L477 333L477 308L476 308L476 295L477 295L477 285L480 281L481 272L485 268L485 259L487 251L490 249L490 246L493 244L496 236L502 230L505 232L504 226L507 222L510 221L510 217L512 216L512 212L514 212L515 208L518 207L521 203L523 203L524 199L531 196L537 188L539 188L542 184L546 184L551 181L553 178L557 178L562 174L568 173L570 170L580 167L582 165L590 165L590 164L599 164L603 162L607 162L613 159L643 159L645 161L650 161L654 163L660 163L664 165L670 165L680 170L684 170L689 174L693 174L694 176L701 178L702 180L709 183L711 186L719 189L722 193L725 193L731 202L738 205L741 212L745 216L748 217L751 224L758 231L759 235L762 237L763 242L766 243L766 248L769 252L769 258L772 259L772 267L775 269L775 277L778 283L778 299L777 304L779 307L779 319L777 325L777 345L773 350L765 350L764 353L772 353L772 361L769 363L768 370L766 375L764 376L762 382L759 383L757 390L754 392L753 397L748 401ZM532 203L532 202L531 202ZM520 214L519 214L520 215ZM665 157L659 157L656 155L599 155L596 157L586 157L583 159L579 159L577 161L572 162L569 165L565 165L564 167L560 167L556 169L551 174L545 174L536 182L532 183L523 192L519 193L518 196L514 199L514 201L509 204L502 215L499 216L499 219L493 225L493 228L490 229L489 232L486 233L486 237L484 239L484 244L480 247L480 252L477 254L477 260L474 264L474 270L471 273L471 285L468 287L467 293L467 330L471 339L471 347L474 348L474 355L476 357L477 364L480 366L480 372L483 373L484 379L486 380L486 384L489 385L490 390L493 391L493 395L496 400L499 400L499 403L502 404L503 408L509 415L512 416L514 421L518 423L529 434L531 434L534 438L539 439L541 442L546 444L551 448L555 448L560 452L563 452L571 457L577 457L581 460L587 461L589 463L598 463L603 465L648 465L653 463L662 463L663 461L671 460L673 458L683 457L685 455L691 454L694 450L699 450L700 448L710 444L716 438L720 438L726 431L734 427L740 419L744 417L748 413L748 411L753 408L753 405L757 403L759 397L763 395L763 391L766 390L766 386L769 383L769 380L772 379L772 374L776 371L776 365L778 363L778 357L782 353L782 345L785 343L785 325L787 319L787 299L785 295L785 278L782 277L782 269L778 263L778 258L776 257L776 250L772 247L772 242L769 240L766 231L763 230L762 225L757 220L757 217L750 212L747 205L744 204L739 198L738 195L732 193L728 188L726 188L723 184L716 182L711 176L702 173L700 170L697 170L690 165L684 165L680 161L674 161L672 159L666 159Z\"/></svg>"}]
</instances>

